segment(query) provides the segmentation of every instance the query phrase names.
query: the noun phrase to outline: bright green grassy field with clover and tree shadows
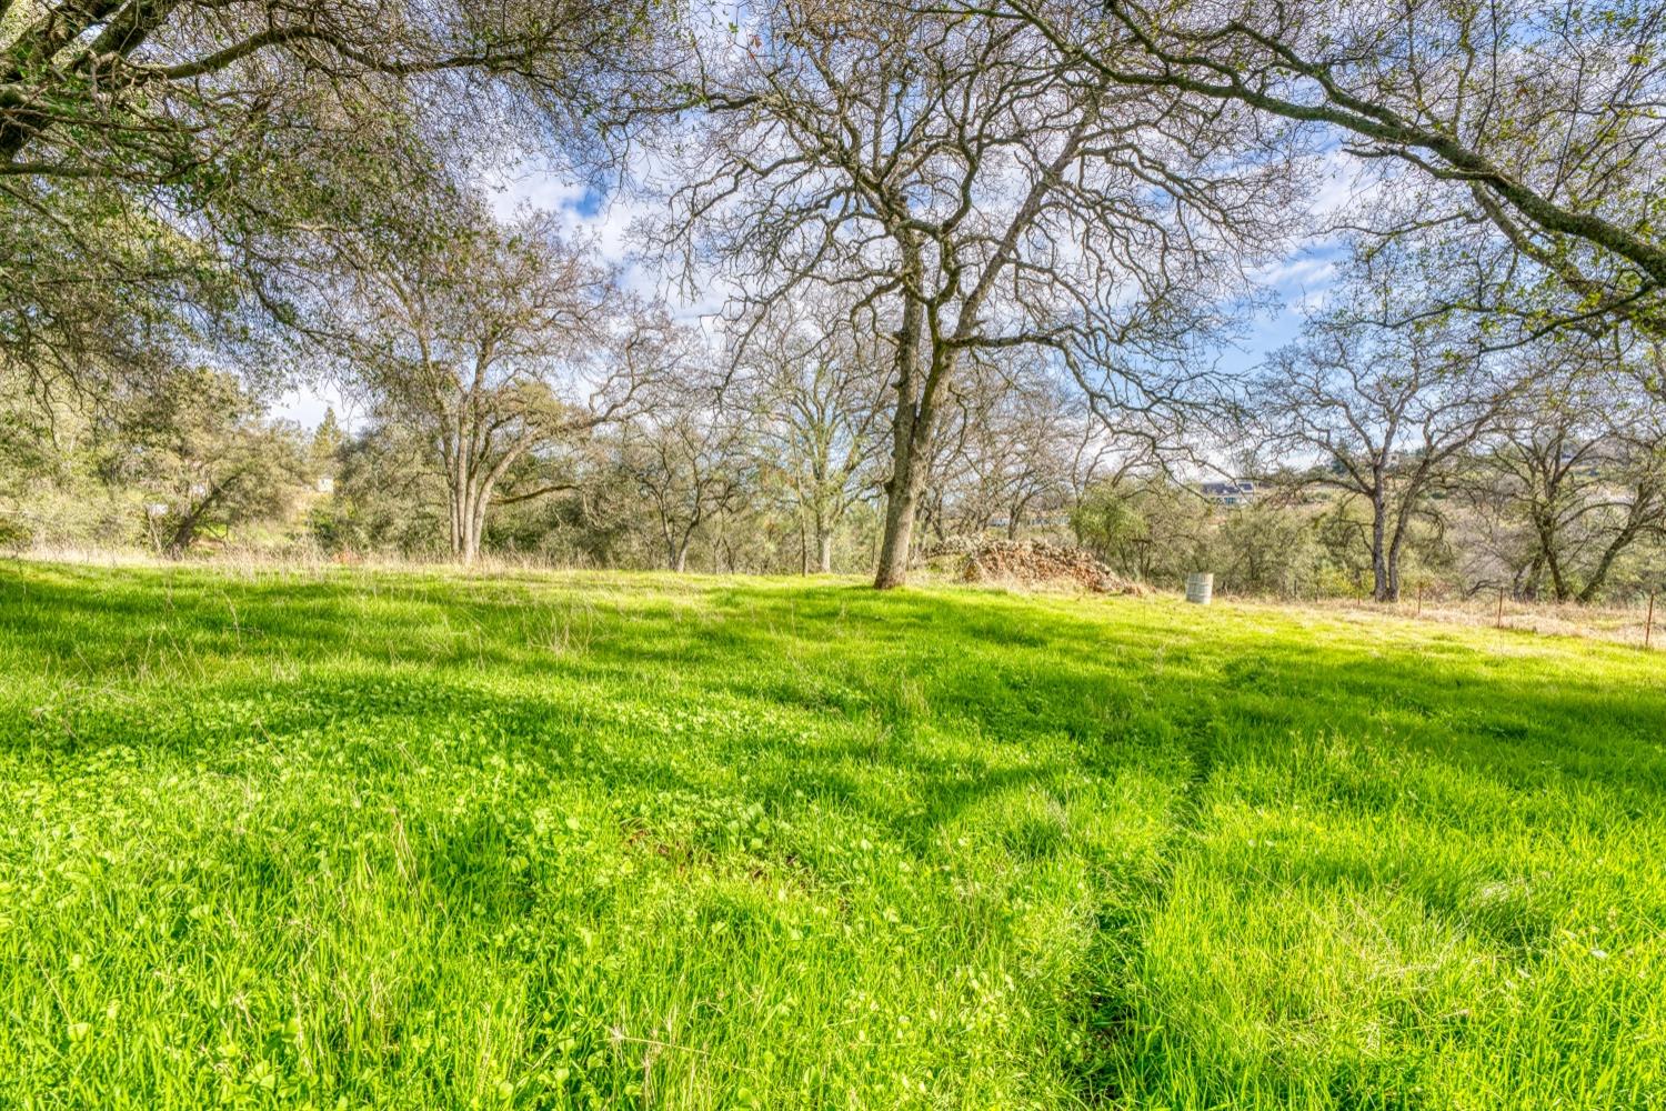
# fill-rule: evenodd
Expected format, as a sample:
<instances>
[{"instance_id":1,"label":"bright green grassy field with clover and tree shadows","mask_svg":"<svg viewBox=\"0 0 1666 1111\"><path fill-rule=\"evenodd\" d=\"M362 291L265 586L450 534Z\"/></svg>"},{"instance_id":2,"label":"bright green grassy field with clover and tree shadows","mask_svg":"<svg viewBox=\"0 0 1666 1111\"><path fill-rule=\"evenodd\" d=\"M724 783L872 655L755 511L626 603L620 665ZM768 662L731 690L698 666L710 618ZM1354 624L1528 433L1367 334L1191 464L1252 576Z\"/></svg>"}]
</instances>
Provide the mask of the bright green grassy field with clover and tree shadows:
<instances>
[{"instance_id":1,"label":"bright green grassy field with clover and tree shadows","mask_svg":"<svg viewBox=\"0 0 1666 1111\"><path fill-rule=\"evenodd\" d=\"M1666 658L0 565L0 1108L1666 1108Z\"/></svg>"}]
</instances>

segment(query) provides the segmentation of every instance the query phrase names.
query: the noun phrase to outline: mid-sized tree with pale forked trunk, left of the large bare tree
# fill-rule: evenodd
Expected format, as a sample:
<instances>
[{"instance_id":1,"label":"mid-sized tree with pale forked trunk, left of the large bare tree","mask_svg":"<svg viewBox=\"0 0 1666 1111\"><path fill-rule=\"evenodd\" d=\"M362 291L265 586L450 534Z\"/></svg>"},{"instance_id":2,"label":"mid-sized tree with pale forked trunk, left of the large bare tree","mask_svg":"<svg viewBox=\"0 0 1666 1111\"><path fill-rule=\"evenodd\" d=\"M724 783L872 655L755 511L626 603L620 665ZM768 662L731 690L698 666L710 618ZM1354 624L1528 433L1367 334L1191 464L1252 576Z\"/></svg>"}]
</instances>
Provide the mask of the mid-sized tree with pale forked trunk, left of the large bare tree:
<instances>
[{"instance_id":1,"label":"mid-sized tree with pale forked trunk, left of the large bare tree","mask_svg":"<svg viewBox=\"0 0 1666 1111\"><path fill-rule=\"evenodd\" d=\"M463 218L392 248L340 245L347 311L330 335L372 411L430 445L450 550L468 565L491 505L568 488L506 485L516 465L635 411L681 351L665 313L623 295L550 213L501 225L458 205Z\"/></svg>"}]
</instances>

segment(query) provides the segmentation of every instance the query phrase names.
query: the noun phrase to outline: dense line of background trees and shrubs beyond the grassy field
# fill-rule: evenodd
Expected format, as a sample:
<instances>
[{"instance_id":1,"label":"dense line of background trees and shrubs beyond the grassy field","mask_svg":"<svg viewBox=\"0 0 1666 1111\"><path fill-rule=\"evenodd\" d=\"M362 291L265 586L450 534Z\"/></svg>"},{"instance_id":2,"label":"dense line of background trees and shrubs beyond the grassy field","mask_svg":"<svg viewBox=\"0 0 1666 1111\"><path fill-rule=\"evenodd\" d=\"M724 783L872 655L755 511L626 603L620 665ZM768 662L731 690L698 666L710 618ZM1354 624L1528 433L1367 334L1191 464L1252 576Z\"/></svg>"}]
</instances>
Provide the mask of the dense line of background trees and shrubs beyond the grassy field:
<instances>
[{"instance_id":1,"label":"dense line of background trees and shrubs beyond the grassy field","mask_svg":"<svg viewBox=\"0 0 1666 1111\"><path fill-rule=\"evenodd\" d=\"M505 500L481 550L558 566L871 575L878 378L851 381L826 356L791 370L655 398L651 415L528 455L508 478L541 495ZM1080 395L1036 373L960 401L931 460L916 560L951 536L1045 538L1163 588L1206 568L1225 591L1368 596L1381 538L1376 486L1359 473L1378 466L1399 590L1624 601L1666 568L1663 413L1581 381L1513 396L1433 461L1421 438L1283 460L1264 438L1223 476L1111 440ZM227 375L178 386L160 395L168 405L147 395L107 425L62 418L60 446L5 491L7 543L451 558L450 476L420 431L373 421L348 433L333 413L305 431L263 418ZM1264 400L1259 416L1263 431L1288 420L1284 400Z\"/></svg>"}]
</instances>

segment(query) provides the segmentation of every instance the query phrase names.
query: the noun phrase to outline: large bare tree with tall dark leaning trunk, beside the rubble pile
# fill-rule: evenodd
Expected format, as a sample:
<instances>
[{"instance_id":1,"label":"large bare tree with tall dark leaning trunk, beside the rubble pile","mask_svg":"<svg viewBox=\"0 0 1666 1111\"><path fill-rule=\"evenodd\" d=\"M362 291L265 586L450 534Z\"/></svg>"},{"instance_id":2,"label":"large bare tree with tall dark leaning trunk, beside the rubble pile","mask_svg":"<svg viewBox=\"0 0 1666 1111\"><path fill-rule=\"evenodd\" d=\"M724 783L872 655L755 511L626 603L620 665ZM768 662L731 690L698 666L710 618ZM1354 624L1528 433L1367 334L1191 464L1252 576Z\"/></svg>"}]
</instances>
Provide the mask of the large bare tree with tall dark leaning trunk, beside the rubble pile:
<instances>
[{"instance_id":1,"label":"large bare tree with tall dark leaning trunk, beside the rubble pile","mask_svg":"<svg viewBox=\"0 0 1666 1111\"><path fill-rule=\"evenodd\" d=\"M888 340L880 588L906 578L968 351L1051 345L1101 396L1156 403L1293 230L1289 163L1245 113L1116 88L1026 25L791 0L696 38L683 73L701 115L665 242L753 305L843 286Z\"/></svg>"}]
</instances>

